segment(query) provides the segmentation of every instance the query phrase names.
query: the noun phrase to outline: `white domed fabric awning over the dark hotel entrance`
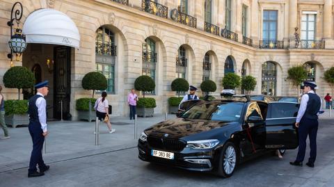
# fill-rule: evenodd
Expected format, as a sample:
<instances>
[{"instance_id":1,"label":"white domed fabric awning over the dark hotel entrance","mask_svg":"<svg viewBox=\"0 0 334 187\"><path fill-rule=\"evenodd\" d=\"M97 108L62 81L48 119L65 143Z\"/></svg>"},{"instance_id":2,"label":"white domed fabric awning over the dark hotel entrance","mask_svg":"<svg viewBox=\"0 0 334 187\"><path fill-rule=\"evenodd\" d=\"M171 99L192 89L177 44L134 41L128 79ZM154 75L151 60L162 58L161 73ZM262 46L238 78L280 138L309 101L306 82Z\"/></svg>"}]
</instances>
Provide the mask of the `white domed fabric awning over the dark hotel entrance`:
<instances>
[{"instance_id":1,"label":"white domed fabric awning over the dark hotel entrance","mask_svg":"<svg viewBox=\"0 0 334 187\"><path fill-rule=\"evenodd\" d=\"M72 19L54 9L35 10L24 22L27 43L60 44L79 49L80 34Z\"/></svg>"}]
</instances>

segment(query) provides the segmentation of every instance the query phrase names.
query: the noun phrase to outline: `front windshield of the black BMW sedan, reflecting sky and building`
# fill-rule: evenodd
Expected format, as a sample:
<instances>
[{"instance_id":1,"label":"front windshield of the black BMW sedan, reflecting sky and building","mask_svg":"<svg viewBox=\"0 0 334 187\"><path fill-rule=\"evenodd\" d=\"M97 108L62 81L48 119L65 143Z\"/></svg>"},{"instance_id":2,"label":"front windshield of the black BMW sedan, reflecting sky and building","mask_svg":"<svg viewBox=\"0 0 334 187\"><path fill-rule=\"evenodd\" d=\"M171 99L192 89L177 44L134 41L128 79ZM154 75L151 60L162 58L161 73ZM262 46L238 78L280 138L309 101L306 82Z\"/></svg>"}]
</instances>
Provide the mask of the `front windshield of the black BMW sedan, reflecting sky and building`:
<instances>
[{"instance_id":1,"label":"front windshield of the black BMW sedan, reflecting sky and building","mask_svg":"<svg viewBox=\"0 0 334 187\"><path fill-rule=\"evenodd\" d=\"M221 122L239 121L242 107L241 102L199 103L186 111L182 117L190 120L212 120Z\"/></svg>"}]
</instances>

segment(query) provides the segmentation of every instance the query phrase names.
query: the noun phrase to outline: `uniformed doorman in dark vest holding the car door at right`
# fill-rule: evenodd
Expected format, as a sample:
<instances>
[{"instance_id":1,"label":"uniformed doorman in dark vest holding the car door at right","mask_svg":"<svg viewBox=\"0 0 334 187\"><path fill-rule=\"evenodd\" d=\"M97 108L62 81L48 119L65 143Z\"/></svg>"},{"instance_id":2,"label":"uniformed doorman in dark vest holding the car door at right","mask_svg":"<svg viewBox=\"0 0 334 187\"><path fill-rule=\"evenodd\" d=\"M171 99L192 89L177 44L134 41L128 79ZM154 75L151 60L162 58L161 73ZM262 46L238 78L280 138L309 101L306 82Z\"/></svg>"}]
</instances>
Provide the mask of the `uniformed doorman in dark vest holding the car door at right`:
<instances>
[{"instance_id":1,"label":"uniformed doorman in dark vest holding the car door at right","mask_svg":"<svg viewBox=\"0 0 334 187\"><path fill-rule=\"evenodd\" d=\"M301 97L301 106L299 107L296 124L299 133L299 149L296 160L290 162L291 165L303 166L306 149L306 138L310 138L310 158L308 165L315 167L315 158L317 156L317 131L318 131L318 112L321 109L321 99L315 94L317 85L312 82L303 82L303 93Z\"/></svg>"}]
</instances>

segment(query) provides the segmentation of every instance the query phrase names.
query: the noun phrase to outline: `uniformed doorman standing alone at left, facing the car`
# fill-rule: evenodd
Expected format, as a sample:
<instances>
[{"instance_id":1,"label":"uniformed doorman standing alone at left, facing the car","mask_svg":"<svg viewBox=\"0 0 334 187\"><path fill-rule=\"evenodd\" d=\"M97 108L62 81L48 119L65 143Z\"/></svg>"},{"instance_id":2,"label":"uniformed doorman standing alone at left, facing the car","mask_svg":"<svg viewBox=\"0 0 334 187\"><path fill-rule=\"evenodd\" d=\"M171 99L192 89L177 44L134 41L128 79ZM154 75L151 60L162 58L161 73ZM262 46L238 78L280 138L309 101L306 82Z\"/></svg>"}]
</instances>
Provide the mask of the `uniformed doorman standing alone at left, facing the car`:
<instances>
[{"instance_id":1,"label":"uniformed doorman standing alone at left, facing the car","mask_svg":"<svg viewBox=\"0 0 334 187\"><path fill-rule=\"evenodd\" d=\"M33 140L33 151L31 152L28 177L40 177L49 170L49 165L45 165L42 158L42 147L47 136L47 101L44 97L49 92L49 81L44 81L35 85L37 94L29 99L29 133ZM37 171L36 165L40 169Z\"/></svg>"}]
</instances>

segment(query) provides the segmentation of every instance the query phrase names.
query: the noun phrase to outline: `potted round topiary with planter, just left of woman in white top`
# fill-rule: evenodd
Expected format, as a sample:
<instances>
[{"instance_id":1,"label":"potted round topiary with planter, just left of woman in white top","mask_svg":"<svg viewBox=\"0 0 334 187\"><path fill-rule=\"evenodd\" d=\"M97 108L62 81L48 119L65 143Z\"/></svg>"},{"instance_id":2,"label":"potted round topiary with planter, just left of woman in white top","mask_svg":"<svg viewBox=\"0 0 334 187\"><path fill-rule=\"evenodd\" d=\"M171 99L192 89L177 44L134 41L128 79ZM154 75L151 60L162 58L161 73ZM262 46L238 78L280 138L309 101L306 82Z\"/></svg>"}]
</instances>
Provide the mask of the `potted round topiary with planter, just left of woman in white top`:
<instances>
[{"instance_id":1,"label":"potted round topiary with planter, just left of woman in white top","mask_svg":"<svg viewBox=\"0 0 334 187\"><path fill-rule=\"evenodd\" d=\"M78 111L78 118L79 120L88 120L88 122L91 122L92 120L95 120L95 90L106 90L106 77L100 72L89 72L84 76L81 84L82 88L85 90L93 90L93 95L92 98L85 97L77 99L76 108Z\"/></svg>"}]
</instances>

